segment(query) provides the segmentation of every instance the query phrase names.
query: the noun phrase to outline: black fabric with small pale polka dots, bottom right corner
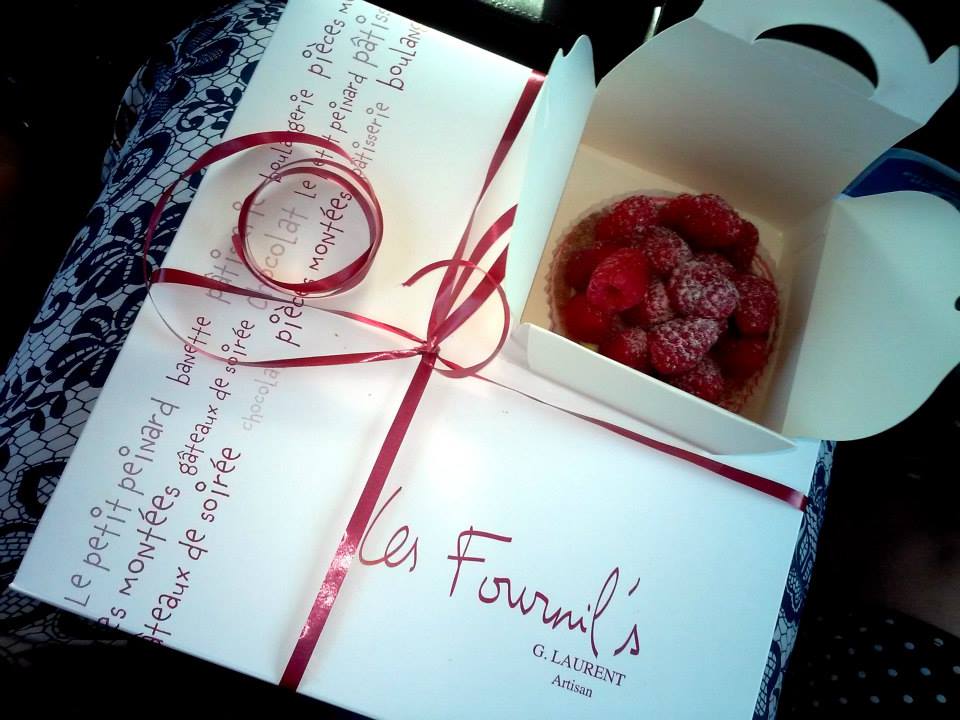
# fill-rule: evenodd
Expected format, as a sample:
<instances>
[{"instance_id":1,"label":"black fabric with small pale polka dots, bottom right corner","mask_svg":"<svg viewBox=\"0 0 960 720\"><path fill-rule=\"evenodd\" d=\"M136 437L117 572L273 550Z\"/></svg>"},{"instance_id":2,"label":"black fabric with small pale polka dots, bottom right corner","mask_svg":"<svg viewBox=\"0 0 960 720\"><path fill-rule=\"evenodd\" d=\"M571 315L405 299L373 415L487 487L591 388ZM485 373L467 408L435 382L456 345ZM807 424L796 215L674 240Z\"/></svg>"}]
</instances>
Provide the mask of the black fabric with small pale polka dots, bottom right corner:
<instances>
[{"instance_id":1,"label":"black fabric with small pale polka dots, bottom right corner","mask_svg":"<svg viewBox=\"0 0 960 720\"><path fill-rule=\"evenodd\" d=\"M960 639L881 609L805 617L780 720L960 718Z\"/></svg>"}]
</instances>

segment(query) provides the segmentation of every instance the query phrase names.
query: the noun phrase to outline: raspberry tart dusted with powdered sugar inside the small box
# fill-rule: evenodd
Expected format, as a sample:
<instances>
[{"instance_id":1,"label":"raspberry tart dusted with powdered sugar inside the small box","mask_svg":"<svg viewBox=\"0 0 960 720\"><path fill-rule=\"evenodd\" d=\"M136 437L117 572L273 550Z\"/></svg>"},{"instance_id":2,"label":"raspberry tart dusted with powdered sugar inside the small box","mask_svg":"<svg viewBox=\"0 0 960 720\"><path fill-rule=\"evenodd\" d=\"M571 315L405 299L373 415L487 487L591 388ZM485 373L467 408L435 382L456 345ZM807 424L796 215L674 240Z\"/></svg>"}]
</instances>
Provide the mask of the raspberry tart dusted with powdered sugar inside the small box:
<instances>
[{"instance_id":1,"label":"raspberry tart dusted with powdered sugar inside the small box","mask_svg":"<svg viewBox=\"0 0 960 720\"><path fill-rule=\"evenodd\" d=\"M562 238L553 330L740 410L770 358L779 293L756 226L719 195L632 195Z\"/></svg>"}]
</instances>

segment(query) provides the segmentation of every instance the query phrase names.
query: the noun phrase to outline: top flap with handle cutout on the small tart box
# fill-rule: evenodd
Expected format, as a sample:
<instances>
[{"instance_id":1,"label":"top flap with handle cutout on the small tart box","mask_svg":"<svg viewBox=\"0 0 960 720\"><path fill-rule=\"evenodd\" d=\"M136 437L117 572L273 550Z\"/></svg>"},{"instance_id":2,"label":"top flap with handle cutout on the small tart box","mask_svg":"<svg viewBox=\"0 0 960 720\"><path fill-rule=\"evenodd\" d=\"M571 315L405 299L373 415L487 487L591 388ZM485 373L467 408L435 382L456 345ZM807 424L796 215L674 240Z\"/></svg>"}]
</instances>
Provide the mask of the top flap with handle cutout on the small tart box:
<instances>
[{"instance_id":1,"label":"top flap with handle cutout on the small tart box","mask_svg":"<svg viewBox=\"0 0 960 720\"><path fill-rule=\"evenodd\" d=\"M877 67L872 96L825 63L798 66L782 43L756 42L795 24L860 42ZM789 225L921 126L957 72L957 48L929 63L880 2L707 0L601 81L584 142L690 187L722 188L735 207Z\"/></svg>"}]
</instances>

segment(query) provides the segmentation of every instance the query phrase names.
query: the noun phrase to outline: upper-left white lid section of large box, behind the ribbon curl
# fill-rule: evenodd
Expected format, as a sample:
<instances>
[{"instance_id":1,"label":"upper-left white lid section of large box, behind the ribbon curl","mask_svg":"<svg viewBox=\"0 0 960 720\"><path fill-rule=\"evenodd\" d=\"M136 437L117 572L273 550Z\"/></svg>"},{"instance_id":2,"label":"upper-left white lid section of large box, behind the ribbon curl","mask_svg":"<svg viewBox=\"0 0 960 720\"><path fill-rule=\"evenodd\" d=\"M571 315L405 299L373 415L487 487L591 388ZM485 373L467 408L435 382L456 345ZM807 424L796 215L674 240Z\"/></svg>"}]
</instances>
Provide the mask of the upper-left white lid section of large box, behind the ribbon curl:
<instances>
[{"instance_id":1,"label":"upper-left white lid section of large box, behind the ribbon curl","mask_svg":"<svg viewBox=\"0 0 960 720\"><path fill-rule=\"evenodd\" d=\"M306 9L303 5L294 3L287 11L288 16L299 20L284 22L271 40L266 55L271 71L255 73L246 92L246 96L252 95L257 101L244 102L238 107L224 139L267 128L286 128L288 113L297 105L303 106L303 103L291 100L292 94L306 89L316 93L316 97L313 98L314 105L307 108L302 123L321 136L330 134L334 141L356 157L357 151L352 143L365 142L369 118L374 117L367 111L376 109L377 103L387 105L389 111L386 114L390 117L381 120L383 128L377 134L375 149L367 153L372 160L361 168L376 189L383 207L385 223L380 252L370 274L359 287L322 302L308 300L308 303L349 310L406 327L412 332L423 332L442 273L435 272L412 287L403 287L402 283L428 263L452 256L477 201L493 150L530 71L393 13L388 13L393 18L388 26L390 30L380 30L373 26L378 22L378 11L372 5L355 3L356 7L353 7L348 4L351 9L342 16L338 4L319 3L313 9ZM355 18L360 16L365 22L358 24ZM334 26L333 29L342 33L338 36L325 33L326 25L343 18L354 18L351 21L354 24L345 28ZM382 21L378 24L386 26ZM374 37L384 39L372 41L375 50L369 49L371 46L366 43L371 41L365 35L358 35L360 40L354 45L348 36L351 27L357 32L371 32ZM411 28L420 29L412 30L418 33L416 47L401 42L403 37L411 34ZM320 55L313 44L320 43L325 35L335 38L321 61L327 74L338 72L332 79L318 76L308 69L317 64ZM281 52L277 47L288 50ZM417 55L403 56L401 50ZM303 52L312 52L313 56L305 58ZM379 67L373 68L354 60L354 55L361 52L371 58L376 54L376 59L370 62ZM403 66L402 74L390 73L389 68L404 59L409 64ZM359 87L359 94L350 113L326 105L327 102L336 103L338 108L344 105L341 86L346 86L351 79L346 74L348 69L366 77L359 84L353 83ZM377 82L394 77L405 82L403 91ZM426 111L427 104L432 111ZM470 108L469 115L465 114L465 108ZM334 112L347 115L338 122L349 132L330 129ZM476 152L476 148L489 150ZM296 152L309 155L309 150L297 149ZM515 160L525 155L526 143L518 141L504 171L497 177L498 187L505 187L507 192L498 193L498 188L492 188L488 193L478 213L475 235L509 205L516 203L515 188L522 180L524 165ZM203 240L176 243L168 253L165 265L206 270L212 269L215 263L213 253L229 255L231 228L237 215L233 203L251 192L260 180L258 173L269 170L269 164L278 157L272 148L258 149L208 168L205 180L210 179L211 184L216 184L218 192L198 195L181 224L182 233ZM295 182L291 185L294 186ZM504 194L507 197L503 197ZM509 204L506 204L508 199ZM308 202L302 198L297 200ZM299 209L302 211L303 207ZM224 217L230 219L229 225L223 222ZM306 222L303 225L302 232L287 233L286 236L298 238L296 248L288 245L288 253L309 246L311 231L313 237L320 234L317 226ZM272 229L277 234L277 228ZM254 230L259 232L260 228ZM255 233L252 236L256 239ZM260 241L256 247L261 251L255 253L255 259L263 263L269 246L273 244ZM356 254L359 254L359 247ZM256 285L253 283L252 286ZM486 337L476 327L472 334ZM458 335L458 340L463 342L465 335Z\"/></svg>"}]
</instances>

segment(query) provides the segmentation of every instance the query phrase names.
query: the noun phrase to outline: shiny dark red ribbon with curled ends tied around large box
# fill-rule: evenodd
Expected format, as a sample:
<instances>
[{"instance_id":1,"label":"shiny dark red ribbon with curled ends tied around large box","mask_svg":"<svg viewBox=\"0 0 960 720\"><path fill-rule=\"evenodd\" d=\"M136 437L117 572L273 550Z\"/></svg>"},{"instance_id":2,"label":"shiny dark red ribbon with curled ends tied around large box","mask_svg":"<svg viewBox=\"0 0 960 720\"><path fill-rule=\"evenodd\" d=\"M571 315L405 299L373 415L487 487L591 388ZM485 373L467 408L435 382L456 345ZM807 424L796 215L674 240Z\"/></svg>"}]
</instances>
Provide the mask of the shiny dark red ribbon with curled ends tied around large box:
<instances>
[{"instance_id":1,"label":"shiny dark red ribbon with curled ends tied around large box","mask_svg":"<svg viewBox=\"0 0 960 720\"><path fill-rule=\"evenodd\" d=\"M503 234L512 227L516 215L516 206L505 212L493 223L493 225L491 225L489 229L487 229L486 232L483 233L476 246L470 252L469 256L466 252L468 239L473 228L475 216L477 209L480 206L480 202L489 188L490 183L493 181L493 178L500 169L500 166L506 158L507 153L516 140L516 137L520 132L520 128L523 126L524 120L526 119L530 108L537 97L537 93L540 90L542 82L543 76L539 73L532 74L528 79L527 84L517 101L517 105L513 111L513 114L507 123L503 136L501 137L496 151L494 152L477 201L474 204L473 211L471 212L466 229L460 238L453 258L450 260L441 260L427 265L426 267L417 271L409 280L407 280L406 283L404 283L404 285L412 285L430 272L441 269L444 271L443 278L440 282L440 286L437 290L437 295L431 309L426 338L419 338L415 334L404 330L403 328L398 328L388 323L384 323L373 318L364 317L356 313L350 313L342 310L315 308L322 312L329 312L348 318L355 322L377 327L381 330L386 330L417 344L411 348L388 349L374 352L314 355L275 360L240 361L239 363L235 363L253 367L323 367L330 365L380 362L384 360L396 360L415 356L420 357L420 362L417 365L403 400L400 403L397 414L394 417L393 422L390 425L390 429L388 430L383 444L380 447L380 451L377 454L376 460L374 461L373 467L363 487L363 491L360 494L360 499L357 501L350 519L347 522L347 527L340 539L333 559L327 568L326 576L324 577L320 591L317 593L317 596L314 599L307 619L300 631L296 645L294 646L290 659L287 662L287 666L284 669L280 684L285 687L296 689L303 678L303 674L306 671L310 657L312 656L314 648L316 647L320 635L323 632L323 628L330 617L330 612L333 609L333 605L336 602L340 589L343 587L343 583L356 554L357 547L359 546L360 539L364 530L369 524L371 517L373 516L376 504L380 498L381 492L383 491L387 477L390 474L390 470L393 467L393 463L397 457L397 454L400 452L400 447L403 444L403 440L410 427L410 423L412 422L413 416L420 404L430 377L434 372L442 373L449 377L455 378L473 376L481 380L485 380L486 382L491 382L499 387L512 390L531 400L566 412L569 415L589 422L595 426L604 428L605 430L620 435L621 437L645 445L646 447L657 450L658 452L665 453L672 457L709 470L710 472L720 475L721 477L725 477L741 485L753 488L758 492L762 492L766 495L776 498L777 500L786 502L798 510L802 511L806 506L806 497L803 493L774 480L733 468L716 460L697 455L696 453L674 447L652 438L648 438L640 433L636 433L632 430L609 423L605 420L593 418L581 413L567 410L557 405L553 405L552 403L547 403L539 398L517 390L516 388L502 385L478 374L479 371L489 362L491 362L502 349L507 339L510 323L509 306L507 305L506 295L500 285L506 273L506 250L503 250L491 263L489 270L484 270L482 267L480 267L480 263L486 257L487 253L493 248L497 240L500 239ZM144 275L147 278L148 286L153 283L175 283L208 290L219 290L221 292L231 293L234 295L266 299L270 301L286 302L288 300L288 298L277 298L268 293L262 293L256 290L248 290L245 288L227 285L226 283L222 283L203 275L197 275L184 270L162 268L151 275L147 260L147 251L150 248L153 234L159 222L160 215L163 212L163 209L169 201L171 195L173 194L174 189L182 180L193 173L198 172L203 168L230 157L238 152L242 152L243 150L252 147L277 142L314 145L329 150L340 158L345 159L348 163L350 162L350 157L333 143L330 143L329 141L317 136L289 131L245 135L226 141L220 145L217 145L211 150L208 150L192 165L190 165L190 167L187 168L187 170L184 171L184 173L172 185L164 190L150 218L144 239ZM287 166L284 166L275 173L274 177L279 179L297 173L308 173L328 180L329 182L333 182L347 189L354 196L356 201L360 204L360 208L367 220L369 227L369 238L366 249L345 268L320 280L306 283L283 283L270 278L266 273L257 268L250 260L251 254L247 248L246 228L247 215L250 207L253 205L259 193L263 191L263 189L272 181L272 179L267 179L243 202L240 211L237 234L233 238L234 249L236 250L241 261L243 261L247 267L250 268L254 276L265 285L270 287L294 292L300 296L315 296L318 294L329 296L345 292L349 288L354 287L357 283L359 283L369 271L374 257L376 256L377 249L380 245L383 229L383 216L376 195L373 192L373 188L370 187L369 183L365 178L363 178L362 175L354 171L351 167L349 167L349 165L344 165L343 163L336 161L320 159L298 161L296 163L291 163ZM481 273L480 282L478 283L477 287L460 302L459 305L455 305L461 292L466 286L466 283L468 282L470 273L472 272ZM466 322L489 299L492 294L497 294L503 306L504 313L503 331L500 334L494 350L484 360L467 367L460 366L455 362L443 358L440 355L441 343L450 337L450 335L452 335L454 332L456 332L456 330L458 330L463 323ZM174 333L186 344L190 344L189 340L184 338L176 328L174 328L169 322L167 322L166 319L163 318L162 313L159 314L161 320L163 320L172 333ZM218 360L226 361L225 357L220 357L216 354L205 352L199 348L198 352ZM443 367L439 367L438 363Z\"/></svg>"}]
</instances>

